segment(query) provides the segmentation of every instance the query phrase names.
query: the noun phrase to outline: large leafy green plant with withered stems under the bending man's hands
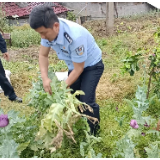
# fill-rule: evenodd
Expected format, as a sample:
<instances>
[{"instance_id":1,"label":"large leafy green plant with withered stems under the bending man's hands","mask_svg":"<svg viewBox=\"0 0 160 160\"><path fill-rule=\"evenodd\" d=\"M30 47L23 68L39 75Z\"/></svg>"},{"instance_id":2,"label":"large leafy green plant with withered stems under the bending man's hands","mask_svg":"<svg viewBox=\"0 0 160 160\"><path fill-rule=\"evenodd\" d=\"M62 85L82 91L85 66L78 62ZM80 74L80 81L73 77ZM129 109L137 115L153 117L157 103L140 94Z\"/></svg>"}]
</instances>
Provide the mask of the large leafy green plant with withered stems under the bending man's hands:
<instances>
[{"instance_id":1,"label":"large leafy green plant with withered stems under the bending man's hands","mask_svg":"<svg viewBox=\"0 0 160 160\"><path fill-rule=\"evenodd\" d=\"M39 77L38 81L33 83L33 89L30 90L27 100L29 100L29 105L36 109L41 122L36 140L42 141L41 148L50 150L53 153L62 147L64 137L68 137L73 143L77 143L74 135L79 126L76 127L75 123L85 117L93 123L96 123L97 119L83 114L86 109L91 112L92 109L76 98L77 95L84 94L82 91L71 94L71 89L67 89L64 81L58 81L52 70L49 70L48 76L52 79L52 95L44 92L43 83ZM100 141L100 137L97 138L89 134L87 119L85 119L85 123L82 124L81 128L84 128L88 140L91 138L94 143L97 143ZM88 142L91 142L91 140ZM92 148L94 143L88 144L88 142L82 143L83 145L89 145L89 148L87 153L80 151L81 156L96 157ZM100 157L100 155L97 156Z\"/></svg>"}]
</instances>

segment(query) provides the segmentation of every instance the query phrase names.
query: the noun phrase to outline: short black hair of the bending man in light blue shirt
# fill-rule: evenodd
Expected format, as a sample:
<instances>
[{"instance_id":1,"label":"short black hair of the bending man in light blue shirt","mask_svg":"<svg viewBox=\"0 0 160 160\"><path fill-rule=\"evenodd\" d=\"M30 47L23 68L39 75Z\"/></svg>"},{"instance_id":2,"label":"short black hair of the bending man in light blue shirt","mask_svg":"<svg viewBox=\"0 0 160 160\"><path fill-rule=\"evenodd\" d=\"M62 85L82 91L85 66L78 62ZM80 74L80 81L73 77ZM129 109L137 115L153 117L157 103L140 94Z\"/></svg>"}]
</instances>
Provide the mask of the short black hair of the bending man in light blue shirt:
<instances>
[{"instance_id":1,"label":"short black hair of the bending man in light blue shirt","mask_svg":"<svg viewBox=\"0 0 160 160\"><path fill-rule=\"evenodd\" d=\"M52 28L55 22L59 22L52 7L39 5L32 9L29 15L29 24L32 29L39 27Z\"/></svg>"}]
</instances>

